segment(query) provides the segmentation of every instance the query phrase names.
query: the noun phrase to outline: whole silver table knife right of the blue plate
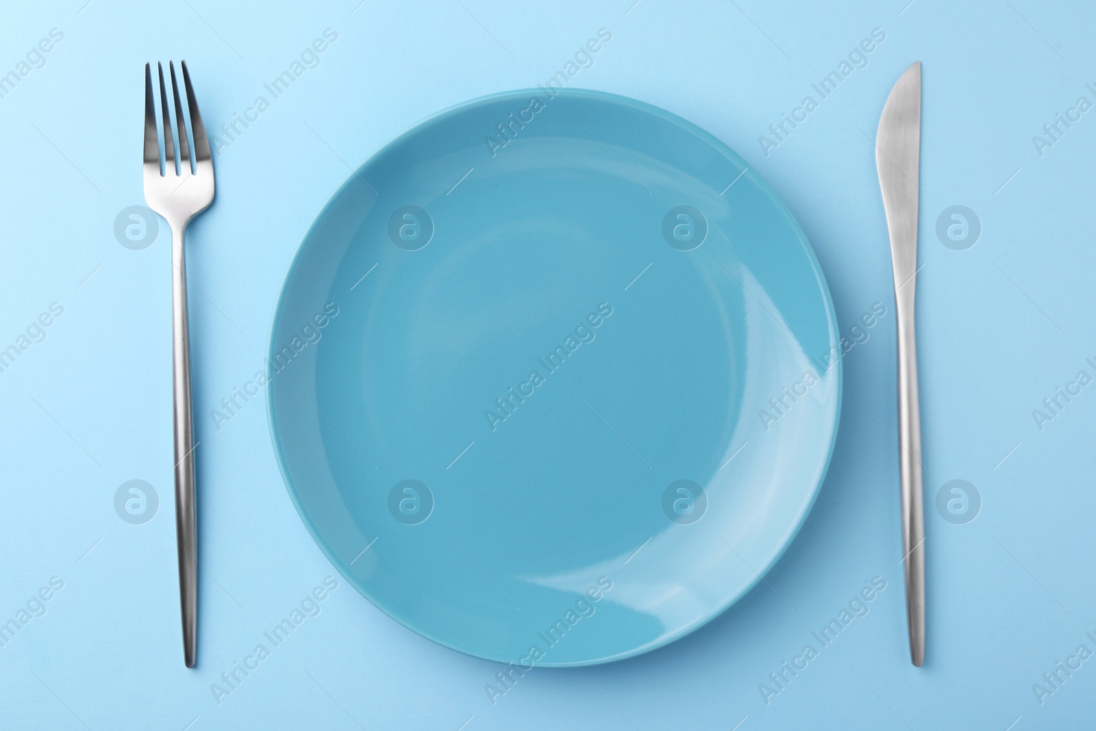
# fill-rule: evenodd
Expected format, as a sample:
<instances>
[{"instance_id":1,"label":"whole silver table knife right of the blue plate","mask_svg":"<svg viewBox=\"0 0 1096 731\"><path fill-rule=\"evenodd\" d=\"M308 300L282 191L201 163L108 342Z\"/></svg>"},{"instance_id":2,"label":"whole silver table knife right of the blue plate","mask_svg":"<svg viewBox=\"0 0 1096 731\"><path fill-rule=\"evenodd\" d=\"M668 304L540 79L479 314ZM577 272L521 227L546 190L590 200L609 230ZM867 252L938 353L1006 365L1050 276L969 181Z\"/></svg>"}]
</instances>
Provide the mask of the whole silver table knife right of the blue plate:
<instances>
[{"instance_id":1,"label":"whole silver table knife right of the blue plate","mask_svg":"<svg viewBox=\"0 0 1096 731\"><path fill-rule=\"evenodd\" d=\"M876 168L887 212L898 320L899 471L910 658L925 662L925 516L921 484L921 410L913 305L917 287L917 186L921 155L921 61L891 89L876 135Z\"/></svg>"}]
</instances>

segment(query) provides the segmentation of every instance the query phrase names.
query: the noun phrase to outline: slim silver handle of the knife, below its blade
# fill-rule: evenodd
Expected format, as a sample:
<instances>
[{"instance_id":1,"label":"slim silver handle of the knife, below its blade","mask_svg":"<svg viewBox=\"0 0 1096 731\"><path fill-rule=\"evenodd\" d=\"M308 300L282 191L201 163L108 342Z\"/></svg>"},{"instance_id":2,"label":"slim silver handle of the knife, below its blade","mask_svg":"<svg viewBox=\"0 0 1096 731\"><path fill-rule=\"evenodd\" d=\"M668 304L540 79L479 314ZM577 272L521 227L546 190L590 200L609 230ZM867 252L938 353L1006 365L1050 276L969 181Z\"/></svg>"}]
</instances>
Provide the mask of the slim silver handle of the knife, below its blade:
<instances>
[{"instance_id":1,"label":"slim silver handle of the knife, below its blade","mask_svg":"<svg viewBox=\"0 0 1096 731\"><path fill-rule=\"evenodd\" d=\"M894 293L898 320L899 471L902 500L902 556L910 659L925 662L925 514L921 465L921 408L914 334L916 273Z\"/></svg>"}]
</instances>

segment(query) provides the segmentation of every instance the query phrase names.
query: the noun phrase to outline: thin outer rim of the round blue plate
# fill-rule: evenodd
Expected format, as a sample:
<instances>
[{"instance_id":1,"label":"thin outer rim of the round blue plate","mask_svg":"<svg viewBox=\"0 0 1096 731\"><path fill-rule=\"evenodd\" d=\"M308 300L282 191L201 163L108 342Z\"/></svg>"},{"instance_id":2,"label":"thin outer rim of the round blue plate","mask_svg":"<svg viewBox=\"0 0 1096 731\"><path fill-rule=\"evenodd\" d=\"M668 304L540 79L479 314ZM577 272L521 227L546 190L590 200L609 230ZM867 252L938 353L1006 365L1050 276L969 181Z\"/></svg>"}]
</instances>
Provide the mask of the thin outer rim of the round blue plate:
<instances>
[{"instance_id":1,"label":"thin outer rim of the round blue plate","mask_svg":"<svg viewBox=\"0 0 1096 731\"><path fill-rule=\"evenodd\" d=\"M414 134L416 134L420 129L422 129L422 128L424 128L424 127L426 127L429 125L436 124L436 123L443 121L446 117L454 116L457 113L460 113L460 112L464 112L464 111L467 111L467 110L470 110L470 108L473 108L476 106L480 106L480 105L483 105L483 104L493 103L493 102L502 100L502 99L522 98L522 96L525 96L526 94L540 95L543 93L544 93L543 89L530 89L530 88L512 89L512 90L509 90L509 91L499 91L499 92L493 92L493 93L490 93L490 94L484 94L484 95L481 95L481 96L476 96L473 99L469 99L469 100L466 100L464 102L459 102L459 103L453 104L453 105L447 106L447 107L445 107L445 108L443 108L443 110L441 110L438 112L434 112L433 114L430 114L429 116L423 117L422 119L420 119L419 122L416 122L416 123L412 124L411 126L407 127L406 129L403 129L399 134L390 137L386 142L384 142L383 145L380 145L376 149L374 149L373 152L370 152L368 155L368 157L366 157L356 168L354 168L350 172L350 174L346 176L346 179L335 189L335 191L330 196L328 196L327 201L324 201L323 205L320 207L319 212L316 214L316 216L312 218L312 221L309 224L308 229L305 231L305 233L301 237L300 241L297 243L296 251L294 252L293 258L289 260L289 264L286 267L285 274L283 275L281 285L278 287L277 299L274 302L274 311L273 311L273 315L272 315L272 318L271 318L270 334L267 336L267 345L266 345L266 349L265 349L266 350L265 355L266 355L267 361L271 362L270 358L273 358L274 353L275 353L275 349L277 347L277 345L276 345L276 336L277 336L277 325L278 325L278 321L279 321L279 316L281 316L281 313L283 311L283 305L285 304L285 297L286 297L286 292L287 292L287 287L288 287L288 284L289 284L289 279L293 277L294 273L296 272L297 266L300 263L301 258L304 255L305 243L312 238L312 235L316 232L316 229L319 227L320 221L323 220L327 217L327 215L329 214L329 212L331 210L331 208L335 205L335 202L339 201L339 198L344 194L344 192L346 191L346 189L349 189L354 183L354 181L358 178L358 174L365 168L367 168L374 160L377 160L383 155L385 155L386 152L388 152L391 148L393 148L395 146L397 146L398 144L400 144L404 138L411 137ZM756 176L757 181L761 183L763 191L776 203L776 205L777 205L778 208L781 208L784 210L784 213L786 214L788 220L791 222L791 225L795 228L796 232L799 235L800 244L802 245L803 252L807 254L808 261L810 262L811 267L814 271L814 276L815 276L815 278L818 281L819 288L821 289L823 304L824 304L825 310L826 310L826 320L827 320L827 323L830 325L830 333L831 333L831 336L830 336L831 343L830 344L831 344L831 347L833 347L833 345L835 345L835 344L838 345L838 347L840 347L840 334L841 334L841 330L840 330L840 325L838 325L838 322L837 322L836 310L835 310L834 304L833 304L833 295L830 292L830 284L826 281L825 272L822 270L822 264L819 262L818 255L814 253L814 247L813 247L813 244L811 244L810 239L807 237L807 232L803 231L802 227L799 225L799 220L796 218L795 214L788 207L788 205L784 201L784 198L780 197L780 195L777 194L776 190L768 183L768 181L761 174L761 172L756 168L754 168L753 165L749 164L745 161L745 159L742 158L742 156L739 155L734 150L734 148L732 148L730 145L728 145L727 142L722 141L721 139L719 139L718 137L716 137L715 135L712 135L711 133L709 133L708 130L704 129L703 127L694 124L693 122L689 122L688 119L686 119L686 118L684 118L684 117L682 117L682 116L680 116L680 115L677 115L677 114L675 114L673 112L670 112L669 110L662 108L662 107L657 106L654 104L651 104L651 103L648 103L648 102L643 102L641 100L638 100L638 99L635 99L635 98L631 98L631 96L625 96L623 94L616 94L616 93L613 93L613 92L600 91L600 90L595 90L595 89L582 89L582 88L569 89L569 88L564 88L564 89L558 90L556 92L556 94L553 94L550 99L555 99L556 96L559 96L559 95L568 95L568 96L575 96L575 98L589 98L589 99L594 99L594 100L607 101L607 102L612 102L612 103L615 103L615 104L620 104L620 105L624 105L624 106L632 107L632 108L635 108L635 110L637 110L639 112L643 112L643 113L647 113L647 114L652 114L652 115L654 115L657 117L660 117L660 118L662 118L662 119L664 119L666 122L670 122L671 124L674 124L675 126L678 126L678 127L683 128L687 133L696 135L697 137L699 137L704 141L706 141L708 145L710 145L711 147L713 147L715 149L717 149L720 153L722 153L722 155L730 153L728 157L730 157L731 159L735 159L738 161L741 161L742 167L745 169L743 172L746 172L746 171L753 172L753 174ZM834 363L834 366L833 366L833 370L835 372L834 373L834 377L836 378L836 392L834 395L834 400L835 400L835 403L836 403L836 408L834 410L834 416L833 416L833 431L831 433L830 445L826 448L826 456L825 456L825 460L824 460L824 462L822 465L822 469L820 470L819 477L815 480L815 483L814 483L813 488L811 489L810 500L806 503L806 505L803 506L803 509L800 511L799 515L797 516L797 518L795 521L795 524L787 532L786 538L784 539L784 542L780 546L779 550L777 550L773 555L773 558L769 559L768 562L764 567L762 567L760 570L757 570L755 572L756 575L754 576L754 579L752 581L750 581L749 583L743 584L743 586L742 586L742 589L740 591L738 591L733 596L731 596L726 603L723 603L722 605L720 605L716 610L711 612L708 616L701 617L701 618L695 620L694 623L692 623L692 624L689 624L689 625L687 625L687 626L678 629L677 631L675 631L673 633L670 633L670 635L666 635L664 637L660 637L659 639L657 639L654 641L651 641L651 642L648 642L648 643L635 647L635 648L632 648L630 650L618 652L618 653L616 653L614 655L609 655L609 656L605 656L605 658L597 658L597 659L593 659L593 660L582 660L582 661L575 661L575 662L556 662L556 663L546 662L546 663L536 663L535 666L536 667L559 667L559 669L566 669L566 667L586 667L586 666L591 666L591 665L603 665L603 664L607 664L607 663L610 663L610 662L617 662L617 661L620 661L620 660L626 660L628 658L635 658L637 655L642 655L642 654L652 652L652 651L658 650L660 648L664 648L664 647L666 647L669 644L672 644L672 643L676 642L677 640L680 640L680 639L682 639L682 638L684 638L684 637L686 637L688 635L692 635L693 632L699 630L704 626L706 626L709 623L711 623L712 620L715 620L717 617L720 617L723 614L726 614L728 609L730 609L732 606L734 606L740 601L742 601L743 597L745 597L747 594L750 594L752 591L754 591L757 587L757 585L762 582L762 580L766 576L766 574L768 574L768 572L773 570L773 568L780 561L780 559L784 558L784 555L787 552L787 550L795 542L796 538L799 536L800 530L802 529L803 525L807 523L807 518L810 516L811 512L814 509L814 503L818 501L819 493L821 493L821 491L822 491L822 484L825 482L826 477L829 476L830 465L833 461L833 454L834 454L834 450L835 450L835 447L836 447L836 444L837 444L837 435L838 435L838 433L841 431L841 415L842 415L842 411L844 410L843 409L843 406L844 406L844 403L843 403L844 382L845 382L845 378L844 378L844 361L845 361L845 358L842 355L842 357L838 357L836 359L836 362ZM327 557L327 559L331 563L332 568L334 568L335 571L339 572L339 575L342 576L343 580L345 580L351 586L353 586L354 590L363 598L365 598L375 609L377 609L378 612L380 612L381 614L384 614L389 619L392 619L393 621L396 621L398 625L400 625L404 629L407 629L407 630L409 630L411 632L414 632L415 635L418 635L420 637L423 637L423 638L425 638L425 639L427 639L427 640L430 640L432 642L435 642L436 644L439 644L441 647L444 647L444 648L446 648L448 650L453 650L453 651L459 652L460 654L469 656L469 658L475 658L477 660L486 660L488 662L499 662L499 663L503 663L503 664L512 662L512 660L510 660L510 659L496 659L496 658L489 658L489 656L481 655L481 654L475 654L475 653L472 653L472 652L470 652L468 650L465 650L465 649L461 649L461 648L458 648L458 647L454 647L448 641L445 641L443 639L434 637L430 631L426 631L423 628L413 627L412 625L404 623L401 618L399 618L398 616L396 616L393 614L390 614L387 609L385 609L384 607L379 606L376 602L374 602L373 598L370 598L369 594L366 591L364 591L363 586L361 585L361 583L358 582L357 578L353 573L351 573L350 575L347 575L347 573L344 572L340 568L343 564L342 559L340 559L339 557L334 556L334 553L331 551L331 547L327 544L327 540L322 537L322 535L320 534L319 529L312 523L312 519L309 517L308 513L305 511L304 506L301 505L300 496L298 495L296 489L294 488L293 480L289 477L288 467L287 467L287 465L285 462L285 455L283 454L283 450L282 450L282 448L279 446L281 442L279 442L279 438L278 438L277 423L275 421L275 414L274 414L274 399L271 397L271 392L270 391L267 391L267 393L266 393L265 401L266 401L266 409L265 409L265 411L266 411L266 422L267 422L267 429L269 429L270 438L271 438L271 446L272 446L272 448L274 450L275 460L277 461L278 472L282 476L282 482L285 486L286 492L289 493L289 499L293 502L294 509L297 511L297 516L300 518L301 523L305 524L305 528L308 530L308 534L312 538L312 541L320 549L320 551L324 555L324 557Z\"/></svg>"}]
</instances>

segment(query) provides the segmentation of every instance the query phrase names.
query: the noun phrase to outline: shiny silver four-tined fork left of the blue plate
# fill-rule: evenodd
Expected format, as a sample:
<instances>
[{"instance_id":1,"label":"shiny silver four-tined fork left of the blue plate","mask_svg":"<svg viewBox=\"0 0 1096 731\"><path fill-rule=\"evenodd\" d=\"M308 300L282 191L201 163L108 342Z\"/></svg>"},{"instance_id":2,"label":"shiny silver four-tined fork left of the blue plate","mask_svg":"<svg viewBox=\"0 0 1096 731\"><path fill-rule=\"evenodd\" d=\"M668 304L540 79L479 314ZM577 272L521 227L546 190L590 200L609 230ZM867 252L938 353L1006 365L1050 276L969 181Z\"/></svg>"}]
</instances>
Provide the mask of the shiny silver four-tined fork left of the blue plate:
<instances>
[{"instance_id":1,"label":"shiny silver four-tined fork left of the blue plate","mask_svg":"<svg viewBox=\"0 0 1096 731\"><path fill-rule=\"evenodd\" d=\"M209 207L214 196L213 159L206 139L198 103L191 87L186 61L183 83L190 110L191 132L194 137L194 164L191 164L186 142L186 122L179 101L179 82L175 66L168 61L171 72L171 91L175 100L175 124L179 129L178 169L175 146L172 144L171 117L168 113L168 94L163 84L163 66L160 72L160 102L163 119L163 158L156 129L156 102L152 95L152 69L145 64L145 202L160 214L171 228L171 376L174 403L175 444L175 536L179 541L179 598L183 618L183 660L194 667L197 654L197 525L194 496L194 434L191 423L191 347L186 318L186 255L183 237L191 218ZM163 171L160 171L161 165Z\"/></svg>"}]
</instances>

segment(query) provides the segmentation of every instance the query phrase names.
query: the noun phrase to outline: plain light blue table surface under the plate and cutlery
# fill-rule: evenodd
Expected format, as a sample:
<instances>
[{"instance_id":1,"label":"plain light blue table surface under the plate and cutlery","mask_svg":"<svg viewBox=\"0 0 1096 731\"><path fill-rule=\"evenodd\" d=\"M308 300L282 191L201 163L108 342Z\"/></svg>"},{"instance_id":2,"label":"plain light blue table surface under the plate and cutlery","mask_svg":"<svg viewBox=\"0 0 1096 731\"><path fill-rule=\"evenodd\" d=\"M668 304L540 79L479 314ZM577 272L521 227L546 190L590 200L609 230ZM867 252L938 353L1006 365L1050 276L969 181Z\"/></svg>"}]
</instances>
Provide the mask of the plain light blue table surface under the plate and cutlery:
<instances>
[{"instance_id":1,"label":"plain light blue table surface under the plate and cutlery","mask_svg":"<svg viewBox=\"0 0 1096 731\"><path fill-rule=\"evenodd\" d=\"M18 79L3 85L0 76L0 350L15 346L0 361L0 621L18 626L0 627L0 728L1092 723L1096 9L631 3L0 8L0 75ZM336 39L306 56L274 98L264 84L328 28ZM829 477L766 582L664 649L581 672L538 669L505 688L503 666L404 629L338 576L282 483L262 397L227 421L213 411L262 368L286 267L351 167L433 112L547 81L600 28L612 42L569 85L664 107L739 151L798 217L855 344ZM871 53L857 52L874 32ZM144 204L141 67L181 57L220 141L217 199L189 237L202 562L194 671L182 662L171 502L170 240L161 224L155 243L133 249L114 230L121 212ZM920 670L902 599L893 285L872 147L887 93L918 59L928 556ZM841 82L823 98L813 84L831 71ZM261 113L258 96L269 102ZM769 126L806 96L815 107L806 121L774 135ZM246 114L248 127L219 130ZM970 233L949 239L946 226L938 235L951 206L974 212L974 245ZM887 313L853 331L876 302ZM43 313L48 327L35 324ZM141 524L115 510L129 480L159 498ZM966 513L952 504L958 515L937 509L952 480L973 486ZM959 501L954 487L946 496ZM872 580L886 589L866 614L819 642L814 633ZM304 621L270 642L264 632L324 581L324 599L306 602ZM259 644L267 656L244 675L236 663L254 663ZM807 644L817 656L792 675L783 663ZM490 684L505 693L489 694Z\"/></svg>"}]
</instances>

